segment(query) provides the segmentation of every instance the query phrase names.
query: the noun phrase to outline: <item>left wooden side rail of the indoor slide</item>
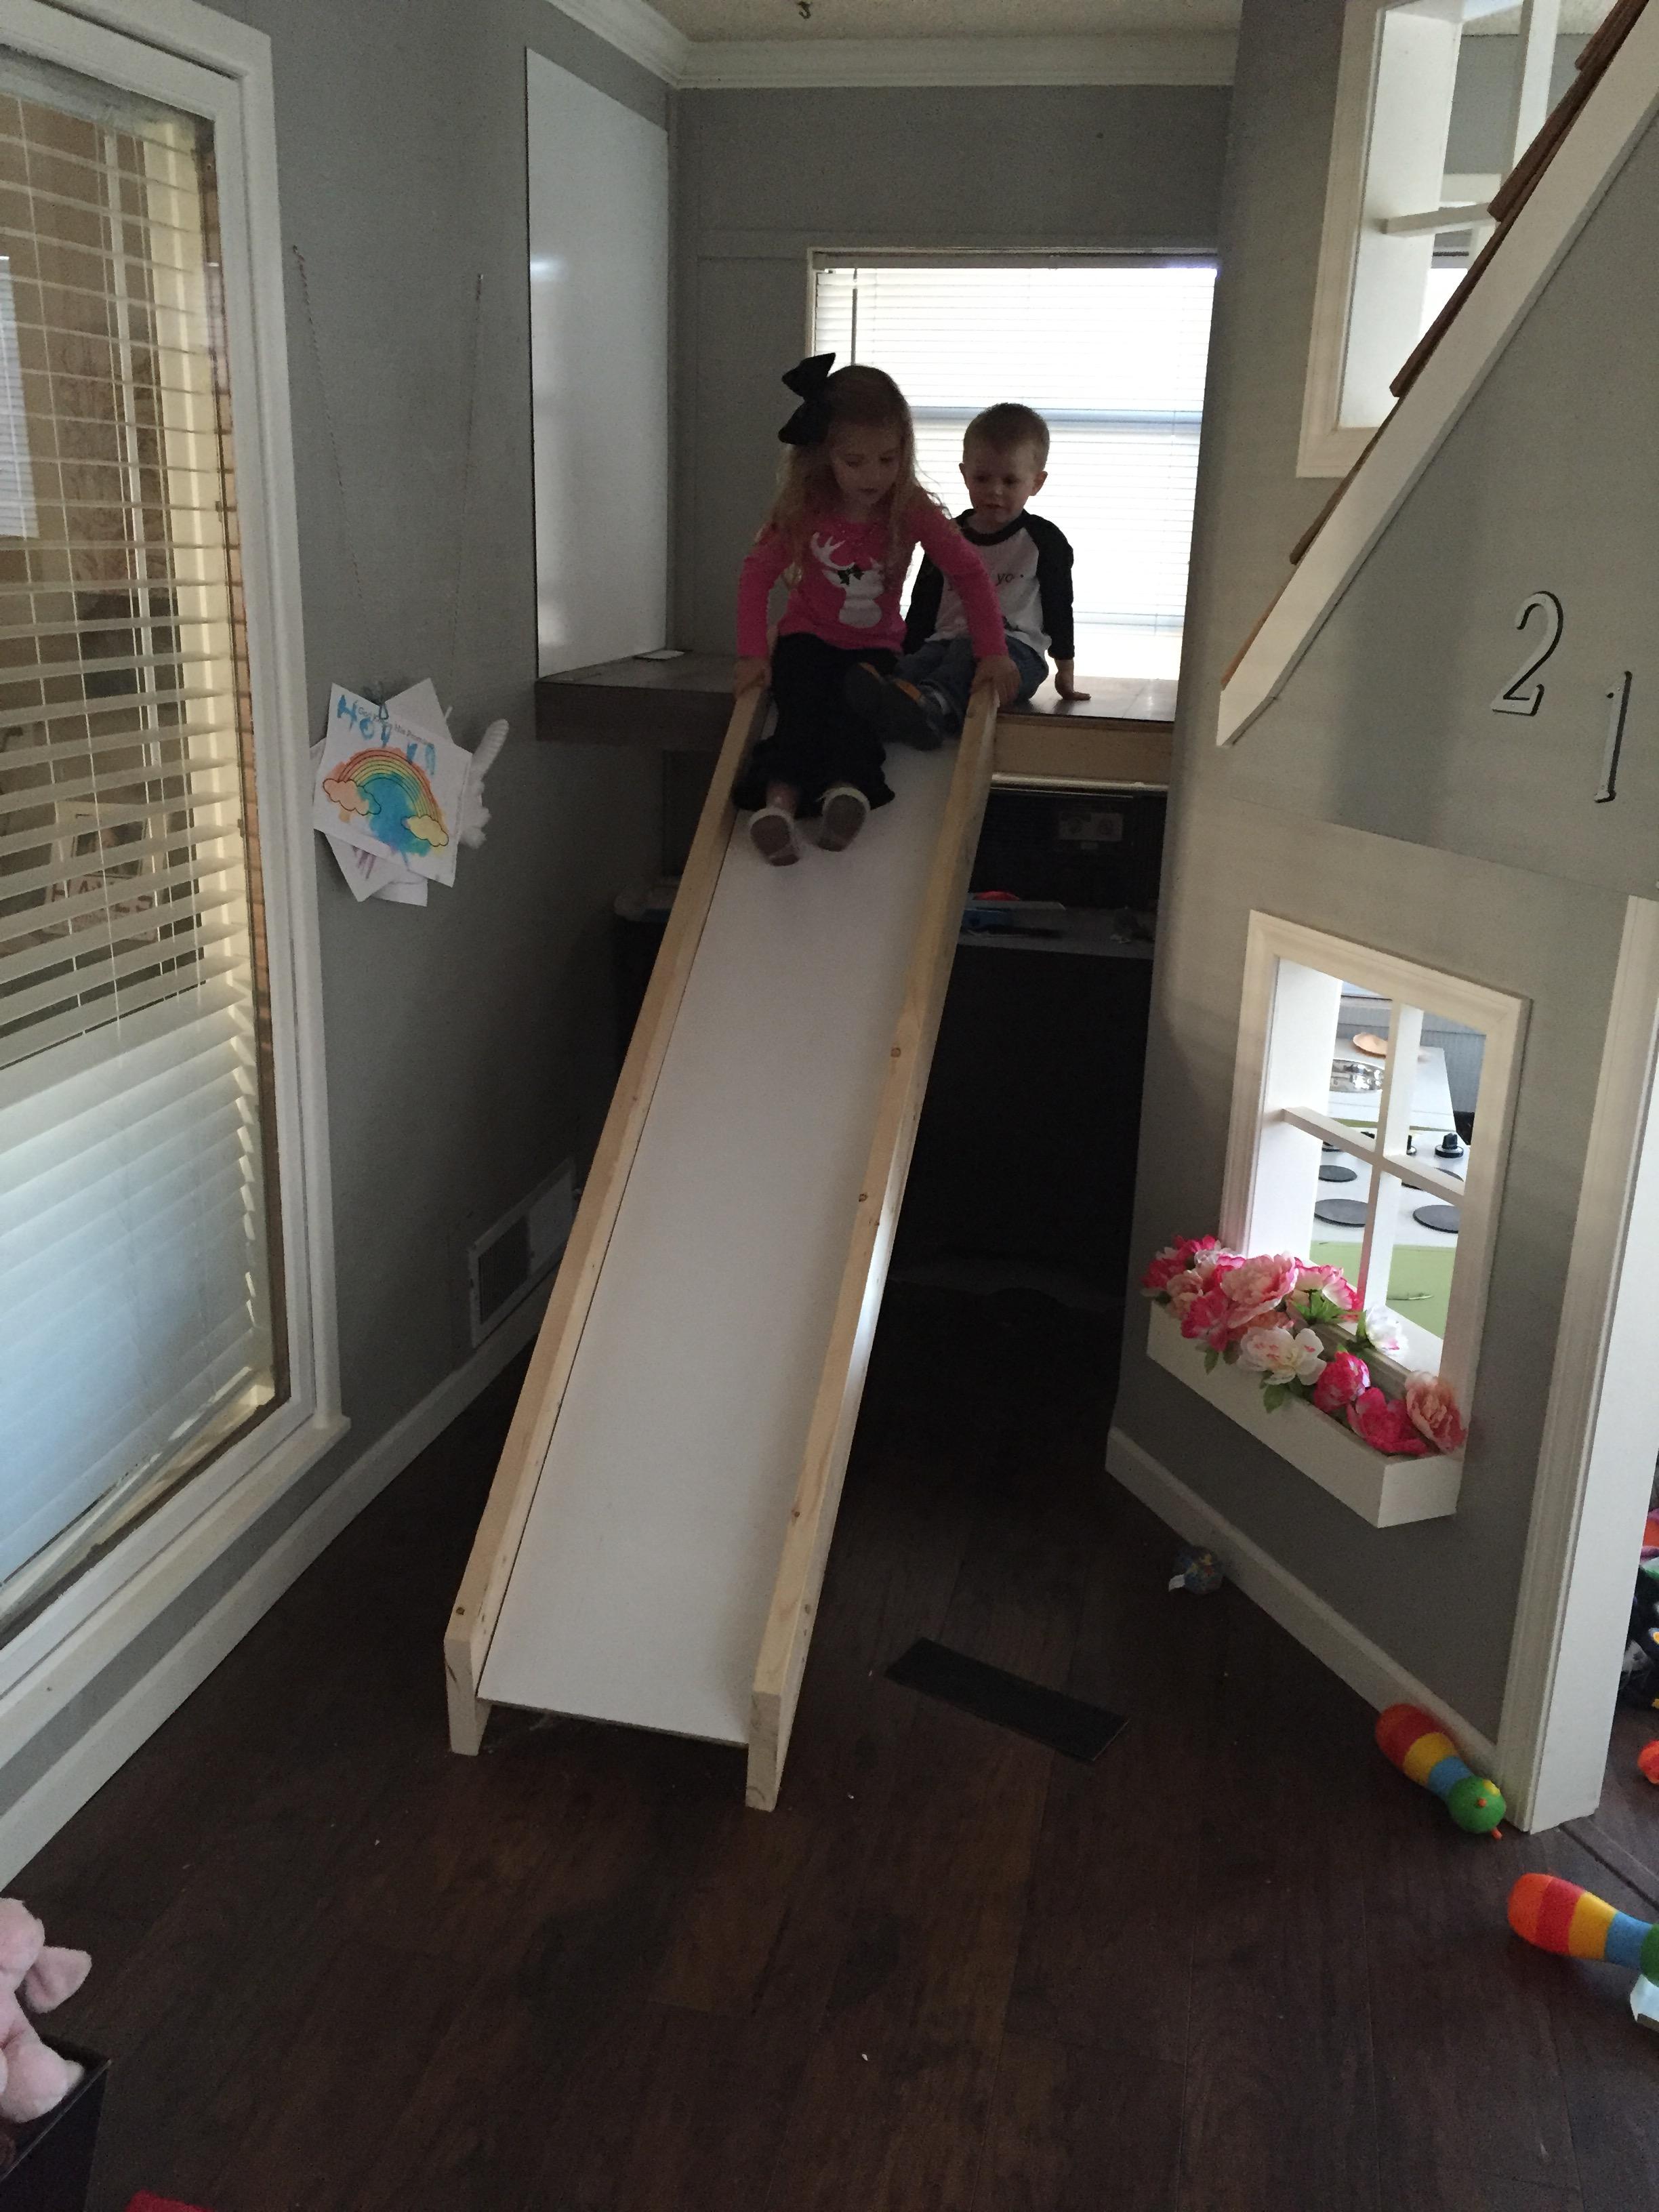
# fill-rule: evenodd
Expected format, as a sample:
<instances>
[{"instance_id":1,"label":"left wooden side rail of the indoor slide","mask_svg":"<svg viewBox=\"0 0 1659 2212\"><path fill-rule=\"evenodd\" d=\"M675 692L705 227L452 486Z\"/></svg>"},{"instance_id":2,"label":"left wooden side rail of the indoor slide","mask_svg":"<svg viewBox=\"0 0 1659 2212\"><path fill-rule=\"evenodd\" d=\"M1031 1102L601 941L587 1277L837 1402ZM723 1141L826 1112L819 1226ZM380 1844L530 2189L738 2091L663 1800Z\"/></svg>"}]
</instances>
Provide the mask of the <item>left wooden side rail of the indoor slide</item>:
<instances>
[{"instance_id":1,"label":"left wooden side rail of the indoor slide","mask_svg":"<svg viewBox=\"0 0 1659 2212\"><path fill-rule=\"evenodd\" d=\"M604 1130L599 1133L599 1146L582 1190L582 1206L571 1228L571 1241L564 1248L553 1296L542 1316L542 1329L535 1338L524 1389L518 1398L513 1427L507 1431L489 1504L478 1524L467 1573L449 1615L445 1679L449 1686L449 1743L458 1752L476 1752L484 1739L489 1703L478 1694L484 1655L495 1635L495 1621L507 1597L518 1546L524 1537L535 1484L553 1442L553 1425L564 1405L564 1391L571 1383L593 1292L599 1283L611 1232L617 1225L617 1212L622 1210L622 1192L628 1188L628 1175L639 1152L657 1077L668 1057L668 1040L675 1033L679 1004L686 998L703 922L714 902L726 843L732 834L732 783L737 781L737 770L743 763L763 708L765 692L759 690L743 692L732 708L726 743L714 763L714 781L703 801L697 836L679 878L679 894L675 896L661 949L650 971L650 984L639 1009L639 1020L635 1022L628 1055L622 1062L611 1110L604 1117Z\"/></svg>"}]
</instances>

